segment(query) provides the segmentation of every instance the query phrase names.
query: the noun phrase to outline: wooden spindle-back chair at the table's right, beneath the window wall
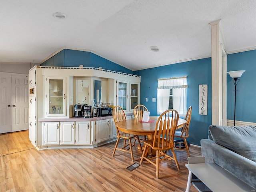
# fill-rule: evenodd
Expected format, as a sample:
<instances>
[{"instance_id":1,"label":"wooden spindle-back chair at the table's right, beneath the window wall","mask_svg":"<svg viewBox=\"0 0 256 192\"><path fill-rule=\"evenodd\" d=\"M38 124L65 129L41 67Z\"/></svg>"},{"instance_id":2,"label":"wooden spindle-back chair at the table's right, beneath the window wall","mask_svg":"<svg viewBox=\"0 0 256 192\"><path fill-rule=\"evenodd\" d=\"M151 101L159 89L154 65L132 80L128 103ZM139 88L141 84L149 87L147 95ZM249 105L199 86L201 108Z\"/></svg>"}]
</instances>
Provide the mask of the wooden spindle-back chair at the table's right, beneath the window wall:
<instances>
[{"instance_id":1,"label":"wooden spindle-back chair at the table's right, beneath the window wall","mask_svg":"<svg viewBox=\"0 0 256 192\"><path fill-rule=\"evenodd\" d=\"M174 144L176 146L178 146L178 147L175 147L175 150L186 150L187 154L188 154L188 157L190 156L190 154L189 154L188 142L187 142L186 138L189 137L188 128L189 128L189 125L190 125L191 114L192 114L192 106L190 106L188 108L188 111L186 113L186 117L185 117L186 123L181 128L181 130L176 130L175 134L174 134L174 137L179 137L179 138L182 138L182 140L183 140L183 142L174 141ZM185 146L185 148L182 147L182 146Z\"/></svg>"}]
</instances>

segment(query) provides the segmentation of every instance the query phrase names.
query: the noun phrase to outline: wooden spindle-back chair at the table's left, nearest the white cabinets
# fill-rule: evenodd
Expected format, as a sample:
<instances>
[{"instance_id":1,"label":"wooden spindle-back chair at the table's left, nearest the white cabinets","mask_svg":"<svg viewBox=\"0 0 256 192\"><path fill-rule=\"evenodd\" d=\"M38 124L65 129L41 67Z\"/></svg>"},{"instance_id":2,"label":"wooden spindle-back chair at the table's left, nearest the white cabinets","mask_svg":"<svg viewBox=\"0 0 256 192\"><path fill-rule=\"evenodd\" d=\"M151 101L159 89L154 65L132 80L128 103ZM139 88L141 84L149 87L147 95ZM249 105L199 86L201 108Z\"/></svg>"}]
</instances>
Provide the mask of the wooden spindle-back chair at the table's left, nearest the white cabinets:
<instances>
[{"instance_id":1,"label":"wooden spindle-back chair at the table's left, nearest the white cabinets","mask_svg":"<svg viewBox=\"0 0 256 192\"><path fill-rule=\"evenodd\" d=\"M120 106L114 107L112 114L113 114L115 124L117 124L120 121L126 121L126 114L124 113L124 110L122 107ZM117 132L117 140L116 140L116 145L115 145L112 156L115 155L116 150L120 150L123 152L130 153L132 157L132 161L134 161L132 147L136 145L136 140L138 140L138 146L140 147L140 149L142 149L138 135L122 132L119 130L117 125L116 125L116 132ZM118 148L118 142L120 138L124 139L124 146L122 148ZM134 138L133 143L132 143L132 138ZM129 142L127 142L126 140L129 140Z\"/></svg>"}]
</instances>

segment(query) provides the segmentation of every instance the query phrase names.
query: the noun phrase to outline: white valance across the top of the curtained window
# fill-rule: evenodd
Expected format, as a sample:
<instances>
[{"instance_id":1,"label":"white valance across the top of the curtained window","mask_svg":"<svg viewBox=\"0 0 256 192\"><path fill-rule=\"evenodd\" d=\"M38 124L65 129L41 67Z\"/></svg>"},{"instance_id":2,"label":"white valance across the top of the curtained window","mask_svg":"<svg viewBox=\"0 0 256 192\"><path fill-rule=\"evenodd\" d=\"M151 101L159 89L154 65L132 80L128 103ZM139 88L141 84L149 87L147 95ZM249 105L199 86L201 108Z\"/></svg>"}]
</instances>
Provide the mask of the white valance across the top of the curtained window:
<instances>
[{"instance_id":1,"label":"white valance across the top of the curtained window","mask_svg":"<svg viewBox=\"0 0 256 192\"><path fill-rule=\"evenodd\" d=\"M158 80L157 89L175 89L175 88L187 88L187 76L173 77L173 78L161 78Z\"/></svg>"}]
</instances>

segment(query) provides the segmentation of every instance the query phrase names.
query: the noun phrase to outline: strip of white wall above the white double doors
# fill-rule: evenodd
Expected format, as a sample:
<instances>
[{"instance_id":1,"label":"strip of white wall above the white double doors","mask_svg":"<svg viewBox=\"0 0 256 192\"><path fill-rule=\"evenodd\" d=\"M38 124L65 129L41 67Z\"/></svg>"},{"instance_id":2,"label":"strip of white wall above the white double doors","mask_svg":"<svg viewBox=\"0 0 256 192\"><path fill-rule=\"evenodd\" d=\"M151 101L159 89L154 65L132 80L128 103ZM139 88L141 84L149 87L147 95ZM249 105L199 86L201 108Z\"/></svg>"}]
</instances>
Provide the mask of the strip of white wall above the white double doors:
<instances>
[{"instance_id":1,"label":"strip of white wall above the white double doors","mask_svg":"<svg viewBox=\"0 0 256 192\"><path fill-rule=\"evenodd\" d=\"M34 64L31 63L0 62L0 72L28 74L28 71L33 66Z\"/></svg>"}]
</instances>

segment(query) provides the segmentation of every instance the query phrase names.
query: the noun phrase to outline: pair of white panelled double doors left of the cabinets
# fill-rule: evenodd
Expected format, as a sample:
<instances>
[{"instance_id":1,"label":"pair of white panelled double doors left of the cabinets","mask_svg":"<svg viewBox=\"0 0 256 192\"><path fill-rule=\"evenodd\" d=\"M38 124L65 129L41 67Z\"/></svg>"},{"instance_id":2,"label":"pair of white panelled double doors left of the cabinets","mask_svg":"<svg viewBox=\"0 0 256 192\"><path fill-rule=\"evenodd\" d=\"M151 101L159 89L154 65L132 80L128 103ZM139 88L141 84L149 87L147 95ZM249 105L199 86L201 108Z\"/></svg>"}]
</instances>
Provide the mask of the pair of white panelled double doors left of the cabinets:
<instances>
[{"instance_id":1,"label":"pair of white panelled double doors left of the cabinets","mask_svg":"<svg viewBox=\"0 0 256 192\"><path fill-rule=\"evenodd\" d=\"M0 134L28 130L28 75L0 72Z\"/></svg>"}]
</instances>

